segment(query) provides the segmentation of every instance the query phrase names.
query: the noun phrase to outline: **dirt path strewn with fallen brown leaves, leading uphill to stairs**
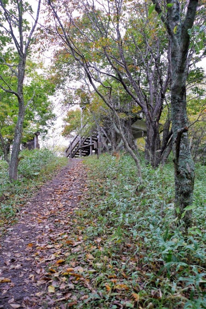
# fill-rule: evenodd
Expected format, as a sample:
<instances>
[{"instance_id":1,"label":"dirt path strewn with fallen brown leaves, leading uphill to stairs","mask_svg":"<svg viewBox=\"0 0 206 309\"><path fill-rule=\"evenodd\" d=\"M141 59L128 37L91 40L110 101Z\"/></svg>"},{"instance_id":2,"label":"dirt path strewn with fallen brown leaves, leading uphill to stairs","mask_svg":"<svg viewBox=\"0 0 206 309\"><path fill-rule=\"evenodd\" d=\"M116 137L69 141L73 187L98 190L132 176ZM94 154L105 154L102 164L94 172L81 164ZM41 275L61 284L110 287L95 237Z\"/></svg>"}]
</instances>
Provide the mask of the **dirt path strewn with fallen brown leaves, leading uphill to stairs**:
<instances>
[{"instance_id":1,"label":"dirt path strewn with fallen brown leaves, leading uphill to stairs","mask_svg":"<svg viewBox=\"0 0 206 309\"><path fill-rule=\"evenodd\" d=\"M70 160L0 239L0 308L75 307L74 286L60 274L68 274L67 257L82 242L81 235L74 240L72 222L85 179L81 160Z\"/></svg>"}]
</instances>

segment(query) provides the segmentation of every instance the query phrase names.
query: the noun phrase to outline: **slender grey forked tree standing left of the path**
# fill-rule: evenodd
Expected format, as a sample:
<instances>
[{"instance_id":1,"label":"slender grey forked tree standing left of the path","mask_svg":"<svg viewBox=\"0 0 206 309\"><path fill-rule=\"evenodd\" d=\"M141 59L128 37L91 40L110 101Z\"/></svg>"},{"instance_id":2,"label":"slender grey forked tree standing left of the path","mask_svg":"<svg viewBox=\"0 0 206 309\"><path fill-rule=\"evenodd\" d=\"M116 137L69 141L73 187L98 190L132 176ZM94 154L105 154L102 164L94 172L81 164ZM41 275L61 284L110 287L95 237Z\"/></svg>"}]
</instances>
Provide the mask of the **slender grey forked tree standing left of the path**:
<instances>
[{"instance_id":1,"label":"slender grey forked tree standing left of the path","mask_svg":"<svg viewBox=\"0 0 206 309\"><path fill-rule=\"evenodd\" d=\"M9 177L10 180L17 180L18 155L23 131L23 120L25 116L25 108L32 102L33 97L24 102L23 83L25 76L25 67L27 55L30 51L29 47L32 43L32 35L35 31L39 18L41 0L37 1L36 17L33 17L32 6L23 0L5 1L0 0L0 40L4 43L15 47L15 52L18 53L18 60L15 63L6 62L1 56L1 62L11 70L11 78L17 79L16 89L6 82L4 75L0 76L0 88L8 93L15 95L18 99L18 120L15 126L15 134L11 151L11 159L9 162ZM25 13L32 17L32 26L30 27L27 20L24 18Z\"/></svg>"}]
</instances>

